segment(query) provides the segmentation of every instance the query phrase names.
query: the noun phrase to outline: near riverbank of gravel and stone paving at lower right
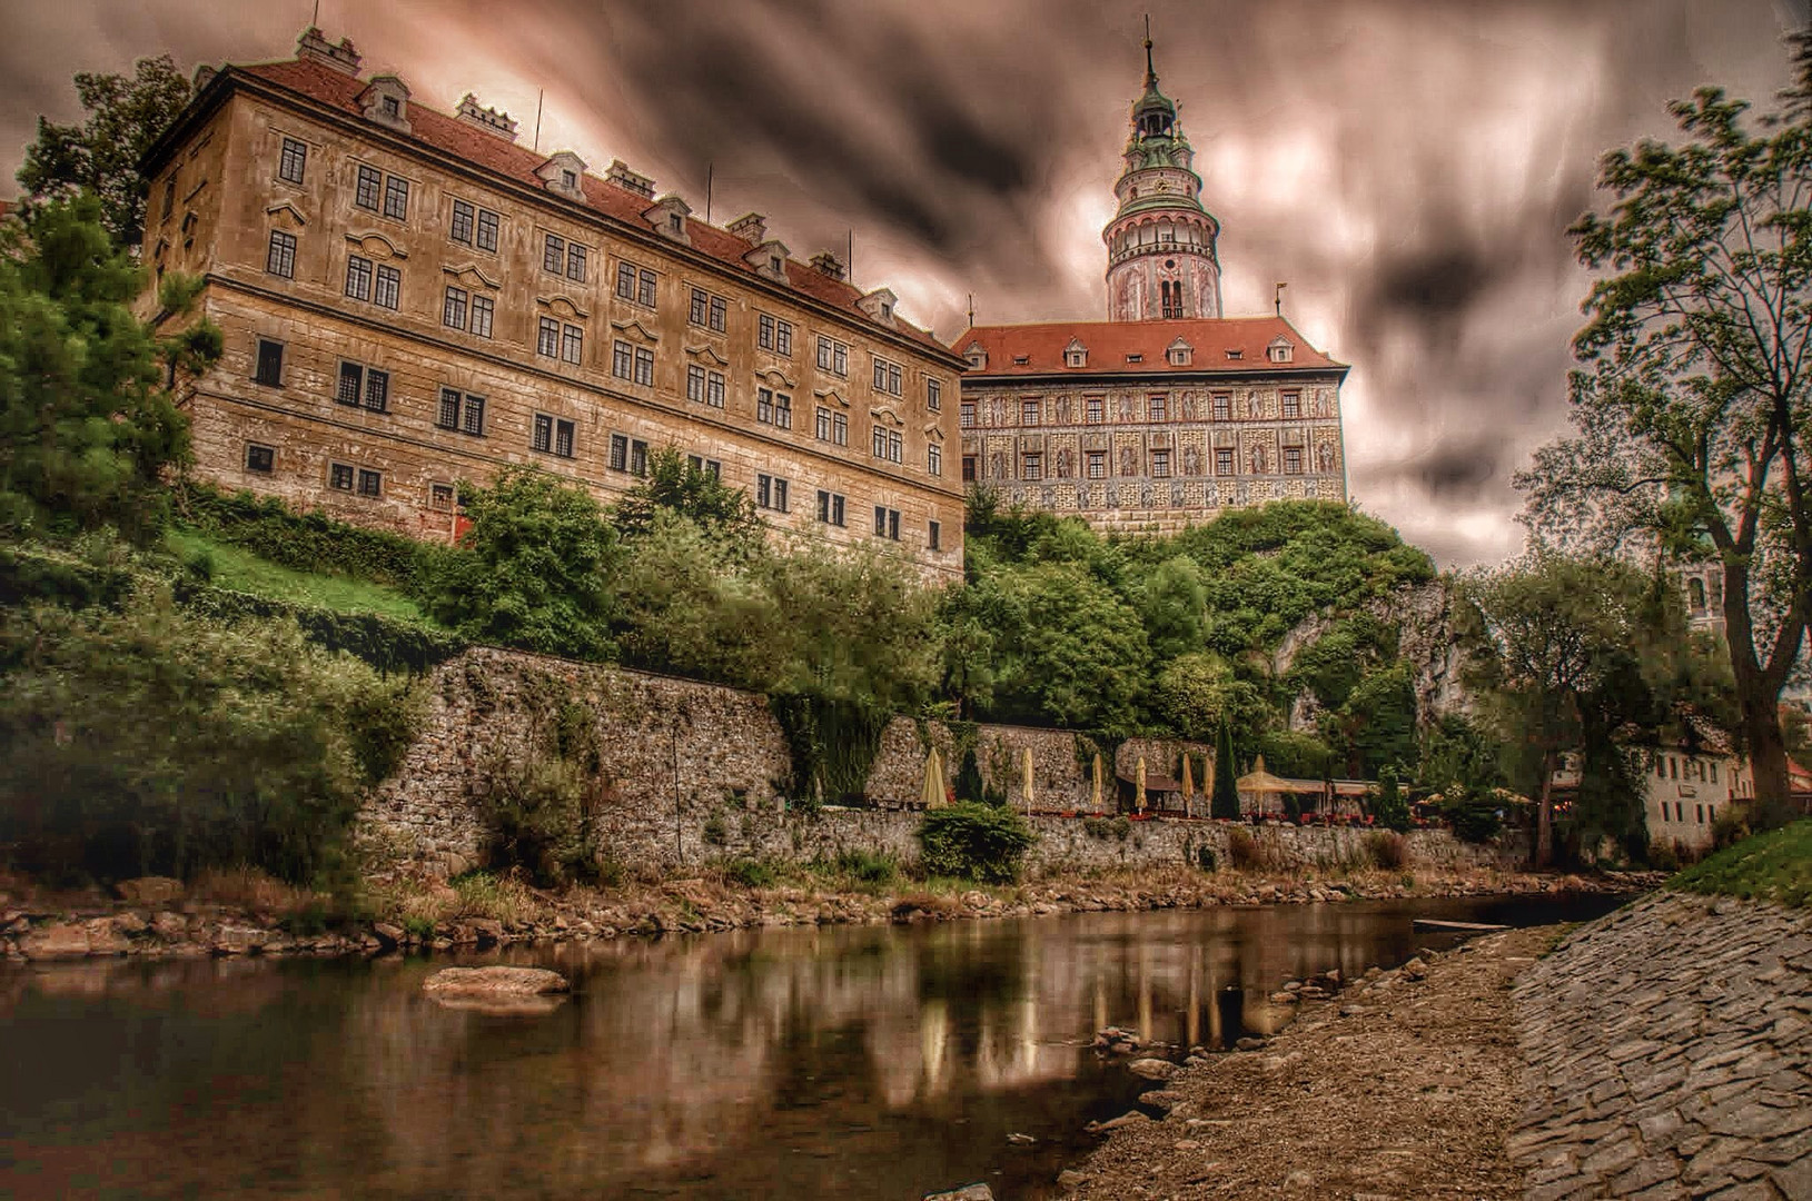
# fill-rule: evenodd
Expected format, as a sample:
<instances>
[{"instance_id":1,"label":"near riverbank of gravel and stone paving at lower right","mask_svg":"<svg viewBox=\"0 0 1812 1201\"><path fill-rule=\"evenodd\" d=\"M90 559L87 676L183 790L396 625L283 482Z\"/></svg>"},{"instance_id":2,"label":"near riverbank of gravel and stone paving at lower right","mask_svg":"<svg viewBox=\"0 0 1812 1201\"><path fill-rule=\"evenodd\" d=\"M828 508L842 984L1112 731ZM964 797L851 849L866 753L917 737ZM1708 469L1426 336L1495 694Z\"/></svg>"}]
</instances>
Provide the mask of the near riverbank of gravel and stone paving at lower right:
<instances>
[{"instance_id":1,"label":"near riverbank of gravel and stone paving at lower right","mask_svg":"<svg viewBox=\"0 0 1812 1201\"><path fill-rule=\"evenodd\" d=\"M1067 1196L1812 1197L1812 913L1658 891L1305 1004Z\"/></svg>"}]
</instances>

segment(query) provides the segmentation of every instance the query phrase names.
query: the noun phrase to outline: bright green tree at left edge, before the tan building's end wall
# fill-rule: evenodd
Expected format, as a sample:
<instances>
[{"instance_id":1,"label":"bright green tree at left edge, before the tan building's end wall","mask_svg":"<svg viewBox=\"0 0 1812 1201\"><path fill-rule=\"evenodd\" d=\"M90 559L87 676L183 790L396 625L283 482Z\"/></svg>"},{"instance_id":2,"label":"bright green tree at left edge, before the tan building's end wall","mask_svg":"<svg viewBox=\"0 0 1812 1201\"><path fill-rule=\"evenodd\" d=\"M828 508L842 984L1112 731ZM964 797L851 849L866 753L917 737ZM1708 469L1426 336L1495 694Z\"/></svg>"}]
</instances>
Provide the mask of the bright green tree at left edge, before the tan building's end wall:
<instances>
[{"instance_id":1,"label":"bright green tree at left edge, before the tan building's end wall","mask_svg":"<svg viewBox=\"0 0 1812 1201\"><path fill-rule=\"evenodd\" d=\"M219 357L221 333L178 321L198 284L167 275L159 337L129 308L141 283L91 196L0 226L0 527L163 529L163 473L188 460L170 389Z\"/></svg>"}]
</instances>

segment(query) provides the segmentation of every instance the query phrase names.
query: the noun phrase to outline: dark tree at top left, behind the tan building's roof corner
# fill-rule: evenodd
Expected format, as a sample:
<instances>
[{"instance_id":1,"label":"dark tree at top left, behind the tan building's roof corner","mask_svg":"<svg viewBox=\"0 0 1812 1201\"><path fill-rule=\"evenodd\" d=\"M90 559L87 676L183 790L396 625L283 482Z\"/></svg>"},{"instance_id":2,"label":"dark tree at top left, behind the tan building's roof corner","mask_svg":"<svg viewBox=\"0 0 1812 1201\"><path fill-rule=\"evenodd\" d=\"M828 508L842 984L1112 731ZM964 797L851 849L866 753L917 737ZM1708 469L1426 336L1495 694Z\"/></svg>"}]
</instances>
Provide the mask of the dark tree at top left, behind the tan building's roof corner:
<instances>
[{"instance_id":1,"label":"dark tree at top left, behind the tan building's roof corner","mask_svg":"<svg viewBox=\"0 0 1812 1201\"><path fill-rule=\"evenodd\" d=\"M188 80L169 54L140 58L132 78L78 74L76 98L87 120L54 125L40 116L18 183L31 201L91 192L100 199L107 234L136 252L145 237L149 192L138 165L188 103Z\"/></svg>"}]
</instances>

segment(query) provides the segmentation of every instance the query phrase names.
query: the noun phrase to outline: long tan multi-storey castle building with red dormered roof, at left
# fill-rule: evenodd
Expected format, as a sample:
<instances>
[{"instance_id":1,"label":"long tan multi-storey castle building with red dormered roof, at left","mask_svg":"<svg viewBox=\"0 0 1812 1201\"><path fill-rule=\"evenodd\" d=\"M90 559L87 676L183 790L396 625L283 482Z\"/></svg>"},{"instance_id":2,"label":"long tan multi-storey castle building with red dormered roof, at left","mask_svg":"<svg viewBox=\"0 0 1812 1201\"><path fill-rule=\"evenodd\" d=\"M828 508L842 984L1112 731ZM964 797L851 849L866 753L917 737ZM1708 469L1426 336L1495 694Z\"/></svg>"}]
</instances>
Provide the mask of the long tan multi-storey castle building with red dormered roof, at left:
<instances>
[{"instance_id":1,"label":"long tan multi-storey castle building with red dormered roof, at left","mask_svg":"<svg viewBox=\"0 0 1812 1201\"><path fill-rule=\"evenodd\" d=\"M962 571L962 360L757 214L429 109L317 29L203 69L143 172L143 261L201 275L225 331L183 397L203 478L451 538L458 480L533 464L609 502L672 446L777 527Z\"/></svg>"}]
</instances>

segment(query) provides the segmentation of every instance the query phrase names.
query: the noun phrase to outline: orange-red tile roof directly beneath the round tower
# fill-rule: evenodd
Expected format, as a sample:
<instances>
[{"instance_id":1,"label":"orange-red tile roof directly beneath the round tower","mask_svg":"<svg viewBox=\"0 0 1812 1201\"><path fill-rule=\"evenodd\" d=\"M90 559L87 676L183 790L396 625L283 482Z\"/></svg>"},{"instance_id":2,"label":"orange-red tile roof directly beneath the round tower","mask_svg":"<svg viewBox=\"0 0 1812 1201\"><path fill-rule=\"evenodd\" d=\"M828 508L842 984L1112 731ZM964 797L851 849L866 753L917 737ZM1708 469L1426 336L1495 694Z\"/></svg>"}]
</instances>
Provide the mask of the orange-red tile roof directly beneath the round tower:
<instances>
[{"instance_id":1,"label":"orange-red tile roof directly beneath the round tower","mask_svg":"<svg viewBox=\"0 0 1812 1201\"><path fill-rule=\"evenodd\" d=\"M1290 362L1272 362L1267 355L1267 348L1279 335L1294 346ZM1187 368L1171 366L1165 357L1176 339L1183 339L1194 350ZM1087 348L1087 366L1064 366L1064 350L1071 341ZM988 366L971 368L971 375L1346 370L1346 364L1335 362L1310 346L1308 339L1283 317L1047 321L1027 326L975 326L960 333L949 346L959 355L968 355L971 346L988 351ZM1239 357L1229 359L1227 351L1238 351ZM1140 362L1127 362L1127 355L1140 355Z\"/></svg>"}]
</instances>

